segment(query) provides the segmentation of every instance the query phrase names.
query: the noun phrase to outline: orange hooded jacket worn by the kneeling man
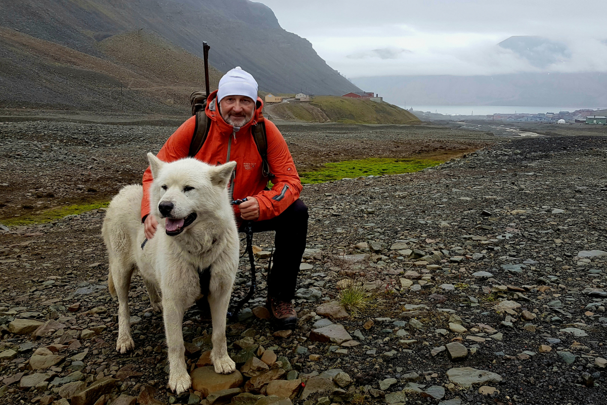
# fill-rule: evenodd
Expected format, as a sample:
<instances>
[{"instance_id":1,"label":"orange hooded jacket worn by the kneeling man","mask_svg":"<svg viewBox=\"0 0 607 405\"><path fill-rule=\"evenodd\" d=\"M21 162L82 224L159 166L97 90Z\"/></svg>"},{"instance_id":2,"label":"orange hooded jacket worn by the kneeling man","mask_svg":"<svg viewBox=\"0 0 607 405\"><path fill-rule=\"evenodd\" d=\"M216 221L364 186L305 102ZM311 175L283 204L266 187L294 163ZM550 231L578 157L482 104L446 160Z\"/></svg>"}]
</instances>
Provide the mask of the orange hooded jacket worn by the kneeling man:
<instances>
[{"instance_id":1,"label":"orange hooded jacket worn by the kneeling man","mask_svg":"<svg viewBox=\"0 0 607 405\"><path fill-rule=\"evenodd\" d=\"M209 135L204 145L196 154L195 158L209 165L222 165L230 161L236 161L236 174L234 177L233 199L243 199L251 196L259 202L259 221L271 219L278 216L295 200L299 198L302 184L299 174L295 169L293 157L289 152L287 142L282 137L276 125L271 121L264 120L266 137L268 138L268 164L270 171L274 174L273 179L263 177L262 158L257 151L257 145L251 134L251 126L260 120L263 102L257 98L257 108L253 120L234 132L234 128L223 120L214 108L217 91L212 92L207 98L206 115L211 118ZM212 108L212 110L211 110ZM263 119L263 118L262 118ZM196 117L192 116L181 124L177 131L169 137L158 152L158 158L163 162L174 162L175 160L188 157L189 146L194 137L194 126ZM229 159L228 159L229 147ZM152 185L152 172L150 168L143 174L143 199L141 200L141 219L149 213L149 188ZM271 190L264 190L272 180ZM229 186L228 186L229 187ZM238 206L234 206L236 217L240 218Z\"/></svg>"}]
</instances>

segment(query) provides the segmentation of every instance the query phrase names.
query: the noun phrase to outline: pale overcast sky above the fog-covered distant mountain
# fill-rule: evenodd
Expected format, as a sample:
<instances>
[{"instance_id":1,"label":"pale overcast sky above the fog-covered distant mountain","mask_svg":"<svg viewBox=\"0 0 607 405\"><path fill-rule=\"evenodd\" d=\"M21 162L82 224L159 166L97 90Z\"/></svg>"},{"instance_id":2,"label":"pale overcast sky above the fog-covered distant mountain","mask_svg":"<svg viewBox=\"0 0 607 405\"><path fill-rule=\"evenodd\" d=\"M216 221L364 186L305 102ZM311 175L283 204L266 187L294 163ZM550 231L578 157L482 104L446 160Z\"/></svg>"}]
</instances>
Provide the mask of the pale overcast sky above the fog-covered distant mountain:
<instances>
[{"instance_id":1,"label":"pale overcast sky above the fog-covered distant mountain","mask_svg":"<svg viewBox=\"0 0 607 405\"><path fill-rule=\"evenodd\" d=\"M607 72L605 0L254 1L350 78ZM514 35L542 36L566 50L537 66L497 46Z\"/></svg>"}]
</instances>

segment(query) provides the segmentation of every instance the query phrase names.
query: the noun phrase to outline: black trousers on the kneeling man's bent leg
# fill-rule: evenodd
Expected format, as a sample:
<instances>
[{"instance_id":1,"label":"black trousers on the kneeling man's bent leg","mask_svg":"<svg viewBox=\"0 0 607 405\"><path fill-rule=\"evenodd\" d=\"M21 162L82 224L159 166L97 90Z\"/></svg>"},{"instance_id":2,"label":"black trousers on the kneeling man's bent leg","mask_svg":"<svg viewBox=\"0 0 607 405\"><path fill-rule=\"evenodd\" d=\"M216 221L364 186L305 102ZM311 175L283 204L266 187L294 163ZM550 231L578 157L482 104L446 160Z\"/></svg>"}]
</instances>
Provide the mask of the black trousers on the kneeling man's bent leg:
<instances>
[{"instance_id":1,"label":"black trousers on the kneeling man's bent leg","mask_svg":"<svg viewBox=\"0 0 607 405\"><path fill-rule=\"evenodd\" d=\"M279 216L254 221L252 228L253 233L276 231L272 268L268 273L268 298L291 301L308 236L308 207L298 199Z\"/></svg>"}]
</instances>

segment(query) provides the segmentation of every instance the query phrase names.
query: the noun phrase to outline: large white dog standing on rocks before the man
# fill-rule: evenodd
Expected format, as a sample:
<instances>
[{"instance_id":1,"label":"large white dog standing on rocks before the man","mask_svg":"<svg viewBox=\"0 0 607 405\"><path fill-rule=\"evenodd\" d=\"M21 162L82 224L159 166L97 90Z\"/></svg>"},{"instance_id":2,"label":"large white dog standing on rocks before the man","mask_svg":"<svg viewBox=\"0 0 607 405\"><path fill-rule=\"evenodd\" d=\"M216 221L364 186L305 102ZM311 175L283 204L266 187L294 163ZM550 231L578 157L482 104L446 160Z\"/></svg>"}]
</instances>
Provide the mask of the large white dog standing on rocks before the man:
<instances>
[{"instance_id":1,"label":"large white dog standing on rocks before the man","mask_svg":"<svg viewBox=\"0 0 607 405\"><path fill-rule=\"evenodd\" d=\"M169 358L169 388L177 393L191 386L184 359L183 315L200 299L198 271L209 268L208 301L212 316L211 360L215 372L236 370L226 347L226 314L238 268L239 240L226 185L236 162L209 166L193 158L161 162L148 154L152 169L151 214L164 218L155 236L145 240L141 223L140 185L126 186L112 199L103 222L109 253L108 287L118 297L120 353L134 349L129 324L129 285L137 267L155 311L163 311ZM162 295L160 297L159 293Z\"/></svg>"}]
</instances>

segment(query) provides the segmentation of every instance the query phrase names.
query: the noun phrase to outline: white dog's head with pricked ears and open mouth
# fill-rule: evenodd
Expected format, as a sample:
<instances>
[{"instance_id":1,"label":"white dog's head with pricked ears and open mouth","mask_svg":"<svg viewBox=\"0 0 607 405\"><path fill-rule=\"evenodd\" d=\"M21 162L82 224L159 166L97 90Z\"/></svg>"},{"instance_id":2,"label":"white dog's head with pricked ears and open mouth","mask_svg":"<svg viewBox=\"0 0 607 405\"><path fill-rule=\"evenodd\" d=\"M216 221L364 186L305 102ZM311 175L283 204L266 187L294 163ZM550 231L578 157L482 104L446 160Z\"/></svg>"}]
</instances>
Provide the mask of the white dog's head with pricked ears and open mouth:
<instances>
[{"instance_id":1,"label":"white dog's head with pricked ears and open mouth","mask_svg":"<svg viewBox=\"0 0 607 405\"><path fill-rule=\"evenodd\" d=\"M169 236L183 232L197 218L214 220L229 209L228 185L236 162L210 166L194 158L165 163L148 153L154 182L150 208L164 219ZM231 211L231 209L230 209Z\"/></svg>"}]
</instances>

